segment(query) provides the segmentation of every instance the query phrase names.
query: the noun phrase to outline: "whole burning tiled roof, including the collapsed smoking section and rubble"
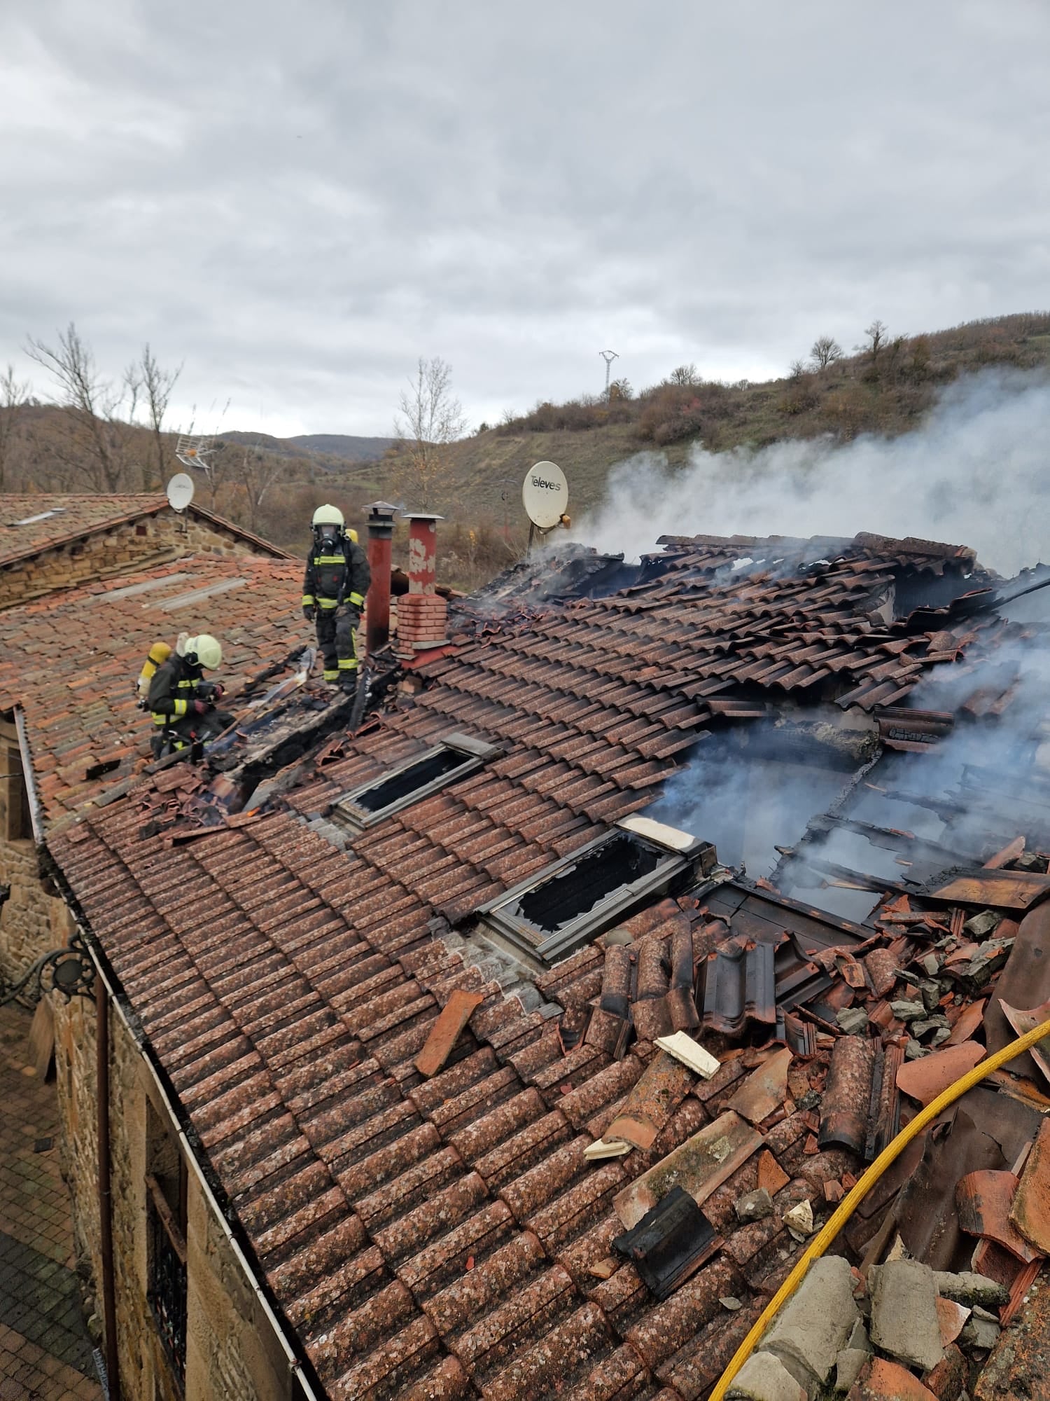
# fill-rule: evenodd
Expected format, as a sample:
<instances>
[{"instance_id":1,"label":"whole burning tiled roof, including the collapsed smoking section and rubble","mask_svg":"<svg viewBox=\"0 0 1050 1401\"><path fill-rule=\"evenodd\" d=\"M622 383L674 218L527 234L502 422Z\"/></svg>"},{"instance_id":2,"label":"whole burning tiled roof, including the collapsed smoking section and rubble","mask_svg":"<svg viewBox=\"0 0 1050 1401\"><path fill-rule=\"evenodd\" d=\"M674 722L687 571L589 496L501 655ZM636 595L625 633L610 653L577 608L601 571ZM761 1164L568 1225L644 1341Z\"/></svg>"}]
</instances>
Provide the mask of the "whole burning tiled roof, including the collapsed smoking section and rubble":
<instances>
[{"instance_id":1,"label":"whole burning tiled roof, including the collapsed smoking section and rubble","mask_svg":"<svg viewBox=\"0 0 1050 1401\"><path fill-rule=\"evenodd\" d=\"M804 1248L808 1231L788 1213L805 1201L819 1223L909 1112L886 1063L921 1066L953 1037L973 1044L974 1006L984 1016L994 1003L976 992L1043 937L1008 933L1016 915L1036 927L1028 904L1050 890L1042 783L1023 818L1012 814L1009 836L1029 845L1005 855L1009 804L970 804L953 845L955 800L941 792L960 776L994 790L955 748L963 730L967 743L1009 731L1004 754L1021 771L1042 743L1042 710L1021 684L1042 629L997 607L1019 586L969 551L872 537L672 541L627 580L615 560L559 567L568 597L538 601L531 567L521 593L504 580L468 600L449 654L413 671L357 733L298 755L276 796L258 787L246 733L239 768L228 754L220 773L175 765L52 842L231 1219L333 1397L511 1398L556 1381L581 1398L661 1386L664 1401L704 1397ZM944 709L916 705L945 674ZM713 828L739 815L739 794L692 829L693 845L631 817L703 772L713 744L763 733L732 755L752 765L745 810L780 772L769 768L777 741L788 766L826 771L834 787L809 807L809 790L791 789L784 810L804 811L781 843L777 888L725 864ZM892 792L888 759L907 766ZM941 761L937 783L918 776ZM363 803L378 785L382 797ZM935 827L854 815L868 792L909 793ZM889 853L892 873L832 860L832 829ZM619 884L616 863L596 860L594 899L570 901L578 947L545 957L539 934L568 920L550 881L612 839L676 860L650 850ZM995 884L974 873L987 860L1019 869ZM654 888L658 867L669 874ZM542 898L528 902L532 891ZM843 892L864 908L836 912ZM869 913L881 894L889 904ZM507 899L515 927L538 937L515 941L490 919ZM900 1006L917 985L921 1016ZM655 1038L673 1031L714 1051L713 1079L659 1051ZM869 1080L857 1132L827 1138L829 1073L854 1042L872 1066L882 1056L885 1094ZM988 1131L1000 1157L981 1166L1014 1167L1033 1126L1040 1091L1015 1084L981 1091L974 1122L1007 1125ZM941 1188L962 1114L927 1140ZM707 1173L706 1146L727 1133L732 1152ZM652 1184L669 1154L685 1154L707 1227L693 1223L696 1248L666 1267L661 1300L652 1272L613 1241L640 1206L659 1208ZM771 1212L739 1219L759 1185ZM860 1215L841 1247L850 1258L864 1258L892 1208L881 1194ZM921 1257L924 1243L899 1229ZM939 1267L969 1259L973 1241L952 1240Z\"/></svg>"}]
</instances>

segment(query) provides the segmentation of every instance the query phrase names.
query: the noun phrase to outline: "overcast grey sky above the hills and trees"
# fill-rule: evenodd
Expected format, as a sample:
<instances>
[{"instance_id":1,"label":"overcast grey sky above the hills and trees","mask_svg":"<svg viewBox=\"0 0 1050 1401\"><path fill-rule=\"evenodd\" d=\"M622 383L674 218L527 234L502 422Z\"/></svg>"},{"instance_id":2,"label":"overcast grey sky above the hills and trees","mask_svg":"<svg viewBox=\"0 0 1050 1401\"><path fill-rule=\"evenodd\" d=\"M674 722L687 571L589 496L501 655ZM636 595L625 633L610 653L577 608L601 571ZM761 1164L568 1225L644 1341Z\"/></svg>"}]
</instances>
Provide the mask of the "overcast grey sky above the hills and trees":
<instances>
[{"instance_id":1,"label":"overcast grey sky above the hills and trees","mask_svg":"<svg viewBox=\"0 0 1050 1401\"><path fill-rule=\"evenodd\" d=\"M420 354L477 425L602 349L757 380L1046 307L1047 0L0 0L0 366L148 340L183 426L386 434Z\"/></svg>"}]
</instances>

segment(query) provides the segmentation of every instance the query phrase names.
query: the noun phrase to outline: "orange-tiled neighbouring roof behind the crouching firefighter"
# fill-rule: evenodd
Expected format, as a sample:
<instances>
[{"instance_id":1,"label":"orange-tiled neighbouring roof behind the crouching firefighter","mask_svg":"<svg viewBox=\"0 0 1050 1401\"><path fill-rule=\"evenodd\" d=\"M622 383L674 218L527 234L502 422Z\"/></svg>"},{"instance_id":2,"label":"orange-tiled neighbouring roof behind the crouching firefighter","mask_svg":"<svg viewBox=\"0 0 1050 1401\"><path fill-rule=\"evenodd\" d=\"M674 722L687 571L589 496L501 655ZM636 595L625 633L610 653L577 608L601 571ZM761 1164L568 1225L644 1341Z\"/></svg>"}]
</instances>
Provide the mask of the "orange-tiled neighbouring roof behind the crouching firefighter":
<instances>
[{"instance_id":1,"label":"orange-tiled neighbouring roof behind the crouching firefighter","mask_svg":"<svg viewBox=\"0 0 1050 1401\"><path fill-rule=\"evenodd\" d=\"M150 717L136 709L134 682L154 642L214 630L231 691L308 643L300 573L291 560L197 555L1 611L0 709L25 713L46 818L148 755ZM105 776L88 778L99 764Z\"/></svg>"}]
</instances>

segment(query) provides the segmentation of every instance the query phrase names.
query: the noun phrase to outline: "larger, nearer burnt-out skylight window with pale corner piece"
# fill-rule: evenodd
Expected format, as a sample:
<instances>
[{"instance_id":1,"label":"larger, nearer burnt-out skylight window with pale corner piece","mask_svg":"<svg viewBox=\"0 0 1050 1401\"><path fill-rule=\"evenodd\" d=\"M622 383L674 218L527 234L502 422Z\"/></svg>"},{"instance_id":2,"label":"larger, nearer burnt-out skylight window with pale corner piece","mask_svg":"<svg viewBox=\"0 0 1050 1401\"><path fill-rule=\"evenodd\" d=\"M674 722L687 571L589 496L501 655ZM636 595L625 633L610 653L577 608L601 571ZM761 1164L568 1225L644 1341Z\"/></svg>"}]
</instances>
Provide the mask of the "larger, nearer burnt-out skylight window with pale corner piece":
<instances>
[{"instance_id":1,"label":"larger, nearer burnt-out skylight window with pale corner piece","mask_svg":"<svg viewBox=\"0 0 1050 1401\"><path fill-rule=\"evenodd\" d=\"M482 905L483 925L542 965L564 958L680 877L706 874L714 846L644 817L603 836Z\"/></svg>"}]
</instances>

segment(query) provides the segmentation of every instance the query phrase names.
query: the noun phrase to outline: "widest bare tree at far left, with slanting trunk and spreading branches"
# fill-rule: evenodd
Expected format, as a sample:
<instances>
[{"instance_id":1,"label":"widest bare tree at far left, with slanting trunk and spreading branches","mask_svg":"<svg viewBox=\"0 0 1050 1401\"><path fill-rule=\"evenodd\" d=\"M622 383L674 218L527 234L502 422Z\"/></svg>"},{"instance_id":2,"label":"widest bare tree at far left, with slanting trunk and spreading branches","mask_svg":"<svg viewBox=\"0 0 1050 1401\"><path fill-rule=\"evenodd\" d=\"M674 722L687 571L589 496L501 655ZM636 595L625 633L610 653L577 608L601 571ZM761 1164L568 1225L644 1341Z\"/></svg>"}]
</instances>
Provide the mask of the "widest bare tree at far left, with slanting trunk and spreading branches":
<instances>
[{"instance_id":1,"label":"widest bare tree at far left, with slanting trunk and spreading branches","mask_svg":"<svg viewBox=\"0 0 1050 1401\"><path fill-rule=\"evenodd\" d=\"M98 492L118 492L126 486L134 465L130 420L141 388L139 368L129 366L119 384L104 380L91 347L71 321L59 332L57 346L29 336L25 349L55 377L57 402L70 410L76 440L70 444L70 460L80 462L81 474Z\"/></svg>"}]
</instances>

